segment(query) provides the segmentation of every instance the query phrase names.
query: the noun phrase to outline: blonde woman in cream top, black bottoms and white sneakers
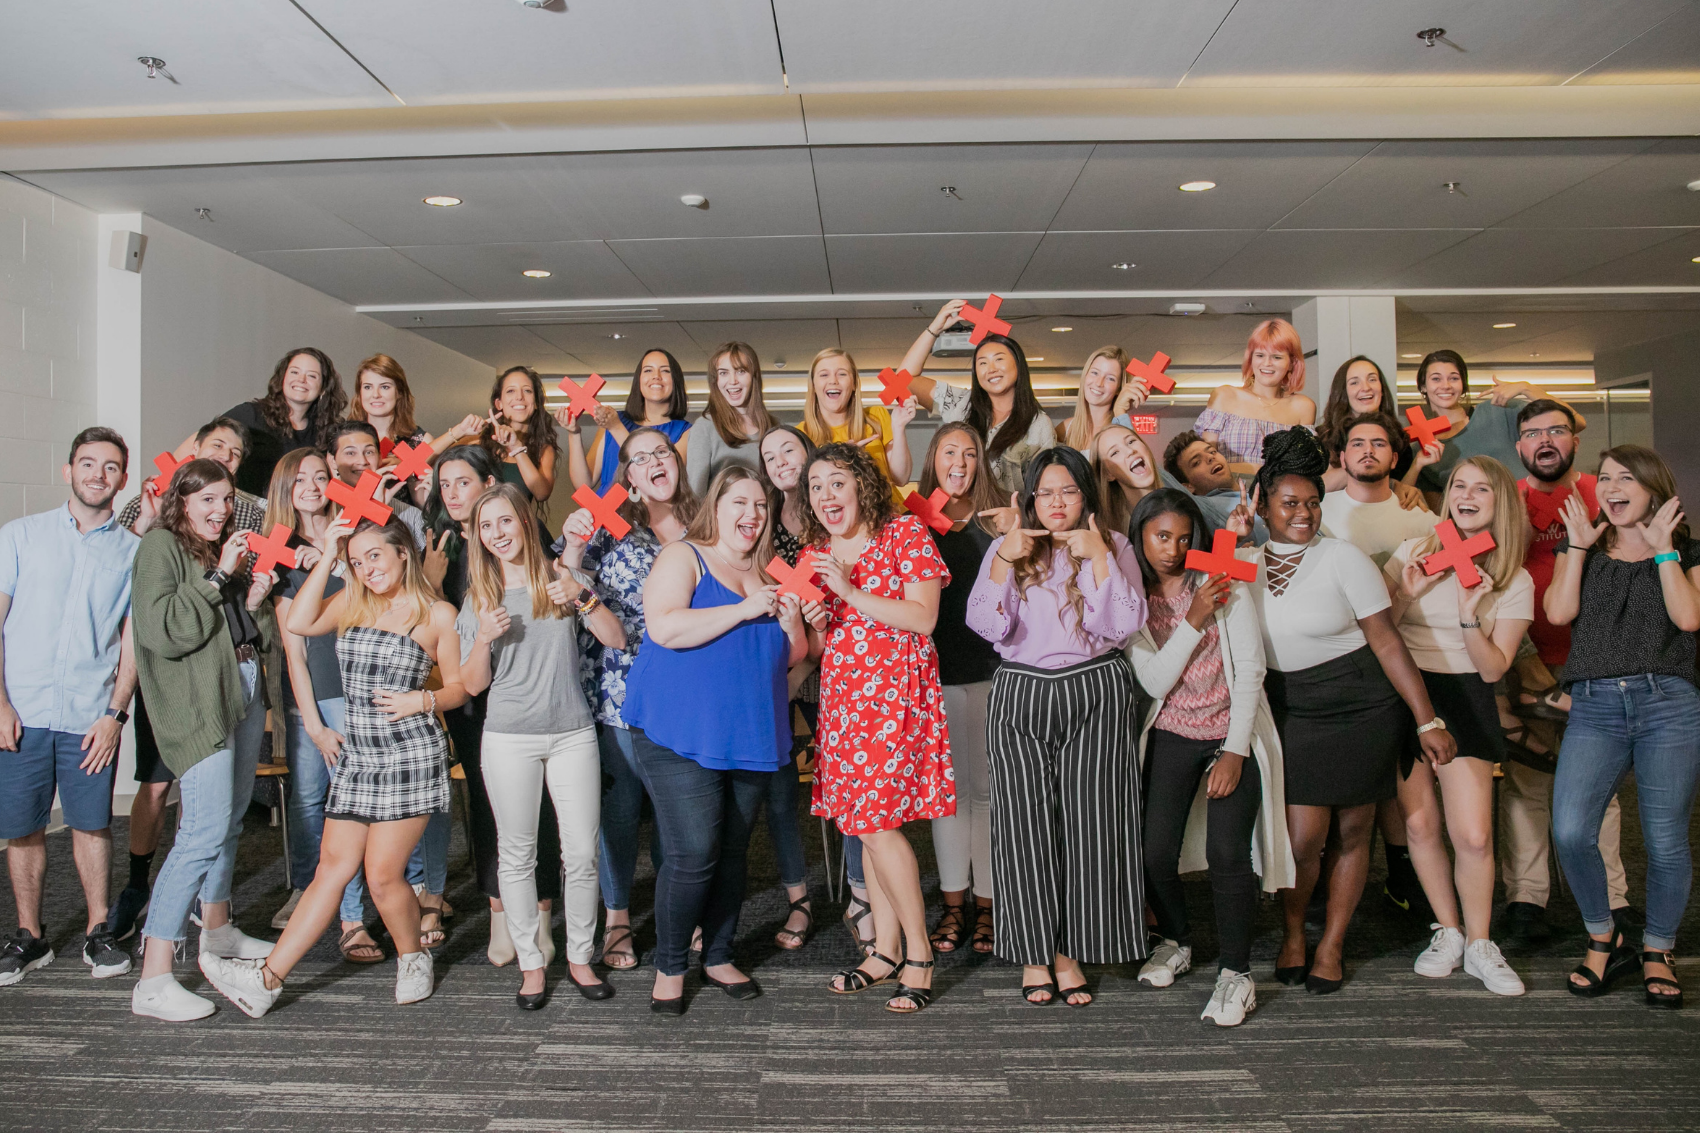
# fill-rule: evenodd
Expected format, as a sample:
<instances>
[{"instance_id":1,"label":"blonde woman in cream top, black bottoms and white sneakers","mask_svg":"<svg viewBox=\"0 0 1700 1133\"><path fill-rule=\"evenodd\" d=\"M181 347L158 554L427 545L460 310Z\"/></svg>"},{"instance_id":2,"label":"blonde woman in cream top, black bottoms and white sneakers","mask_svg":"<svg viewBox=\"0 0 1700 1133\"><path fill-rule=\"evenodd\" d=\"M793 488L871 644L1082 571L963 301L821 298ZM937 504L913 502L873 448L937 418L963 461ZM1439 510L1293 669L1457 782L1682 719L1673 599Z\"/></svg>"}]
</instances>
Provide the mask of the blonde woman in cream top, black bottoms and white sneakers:
<instances>
[{"instance_id":1,"label":"blonde woman in cream top, black bottoms and white sneakers","mask_svg":"<svg viewBox=\"0 0 1700 1133\"><path fill-rule=\"evenodd\" d=\"M1392 616L1399 636L1423 670L1428 699L1459 740L1459 755L1442 766L1408 759L1399 779L1399 806L1411 837L1411 861L1435 910L1435 937L1416 958L1416 973L1464 971L1489 992L1522 995L1523 982L1488 939L1493 915L1493 766L1504 759L1504 735L1493 686L1511 667L1535 619L1535 584L1523 570L1528 519L1516 480L1491 456L1467 456L1452 466L1440 517L1465 539L1491 532L1494 549L1477 560L1481 580L1465 587L1455 568L1430 575L1423 561L1440 549L1428 534L1406 539L1387 560ZM1435 783L1445 798L1445 832L1457 854L1447 876ZM1459 917L1462 898L1464 915Z\"/></svg>"}]
</instances>

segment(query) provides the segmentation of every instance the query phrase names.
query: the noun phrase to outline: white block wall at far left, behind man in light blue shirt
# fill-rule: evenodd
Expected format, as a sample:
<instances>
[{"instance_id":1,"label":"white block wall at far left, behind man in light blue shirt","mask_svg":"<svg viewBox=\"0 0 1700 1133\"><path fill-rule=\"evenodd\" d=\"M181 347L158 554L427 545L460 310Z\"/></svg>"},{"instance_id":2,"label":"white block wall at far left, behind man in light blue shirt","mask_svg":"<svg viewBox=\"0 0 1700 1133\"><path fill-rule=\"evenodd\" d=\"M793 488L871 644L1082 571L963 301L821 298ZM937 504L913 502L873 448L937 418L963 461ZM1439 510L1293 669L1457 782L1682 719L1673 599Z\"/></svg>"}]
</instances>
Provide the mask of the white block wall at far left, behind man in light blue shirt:
<instances>
[{"instance_id":1,"label":"white block wall at far left, behind man in light blue shirt","mask_svg":"<svg viewBox=\"0 0 1700 1133\"><path fill-rule=\"evenodd\" d=\"M97 218L0 177L0 524L63 504L95 424Z\"/></svg>"}]
</instances>

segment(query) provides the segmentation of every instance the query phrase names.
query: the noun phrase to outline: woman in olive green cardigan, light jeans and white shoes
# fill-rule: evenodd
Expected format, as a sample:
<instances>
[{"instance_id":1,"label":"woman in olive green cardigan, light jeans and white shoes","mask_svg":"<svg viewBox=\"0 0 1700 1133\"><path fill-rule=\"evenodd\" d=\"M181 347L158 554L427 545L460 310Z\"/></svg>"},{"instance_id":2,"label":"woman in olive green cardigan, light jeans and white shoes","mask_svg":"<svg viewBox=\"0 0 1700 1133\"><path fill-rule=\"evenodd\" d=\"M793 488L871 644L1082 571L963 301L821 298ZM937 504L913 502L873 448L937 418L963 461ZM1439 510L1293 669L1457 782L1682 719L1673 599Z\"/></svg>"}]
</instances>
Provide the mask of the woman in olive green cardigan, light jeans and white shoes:
<instances>
[{"instance_id":1,"label":"woman in olive green cardigan, light jeans and white shoes","mask_svg":"<svg viewBox=\"0 0 1700 1133\"><path fill-rule=\"evenodd\" d=\"M201 898L201 953L265 956L272 946L230 919L236 837L253 798L265 732L260 655L277 624L265 601L275 575L246 572L248 534L231 534L230 471L187 461L172 476L160 522L136 551L131 623L153 735L182 789L182 817L143 929L131 1011L168 1022L212 1014L172 976L175 949Z\"/></svg>"}]
</instances>

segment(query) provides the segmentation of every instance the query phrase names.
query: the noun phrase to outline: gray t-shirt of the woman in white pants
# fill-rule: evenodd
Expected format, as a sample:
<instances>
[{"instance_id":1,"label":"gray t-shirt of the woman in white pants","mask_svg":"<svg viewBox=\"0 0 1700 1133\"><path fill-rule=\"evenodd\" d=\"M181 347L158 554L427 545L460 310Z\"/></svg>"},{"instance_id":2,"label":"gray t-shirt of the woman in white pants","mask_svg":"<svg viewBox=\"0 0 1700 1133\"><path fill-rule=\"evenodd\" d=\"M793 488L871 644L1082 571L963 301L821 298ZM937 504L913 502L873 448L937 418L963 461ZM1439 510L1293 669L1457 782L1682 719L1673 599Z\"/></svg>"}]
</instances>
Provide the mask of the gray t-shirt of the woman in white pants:
<instances>
[{"instance_id":1,"label":"gray t-shirt of the woman in white pants","mask_svg":"<svg viewBox=\"0 0 1700 1133\"><path fill-rule=\"evenodd\" d=\"M590 728L595 721L578 686L578 618L530 616L530 590L508 587L502 595L512 624L490 646L490 697L484 732L559 735ZM461 635L461 663L473 655L478 611L471 594L454 621Z\"/></svg>"}]
</instances>

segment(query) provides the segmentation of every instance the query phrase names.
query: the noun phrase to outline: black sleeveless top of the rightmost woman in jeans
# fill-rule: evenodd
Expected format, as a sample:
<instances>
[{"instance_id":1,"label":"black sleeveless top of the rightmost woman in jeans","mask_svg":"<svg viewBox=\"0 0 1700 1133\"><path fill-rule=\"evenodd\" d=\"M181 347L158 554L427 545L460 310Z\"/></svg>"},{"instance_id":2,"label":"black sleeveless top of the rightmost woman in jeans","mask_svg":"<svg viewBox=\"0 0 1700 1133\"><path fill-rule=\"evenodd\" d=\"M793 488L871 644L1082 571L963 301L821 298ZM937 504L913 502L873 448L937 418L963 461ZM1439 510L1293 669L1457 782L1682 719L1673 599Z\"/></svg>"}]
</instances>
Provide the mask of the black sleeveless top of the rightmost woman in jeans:
<instances>
[{"instance_id":1,"label":"black sleeveless top of the rightmost woman in jeans","mask_svg":"<svg viewBox=\"0 0 1700 1133\"><path fill-rule=\"evenodd\" d=\"M1559 555L1571 546L1559 541ZM1700 541L1676 544L1686 573L1700 563ZM1695 675L1695 635L1683 633L1664 609L1659 568L1651 558L1625 563L1598 544L1583 563L1581 609L1571 623L1571 655L1564 684L1596 677L1659 674L1700 684Z\"/></svg>"}]
</instances>

